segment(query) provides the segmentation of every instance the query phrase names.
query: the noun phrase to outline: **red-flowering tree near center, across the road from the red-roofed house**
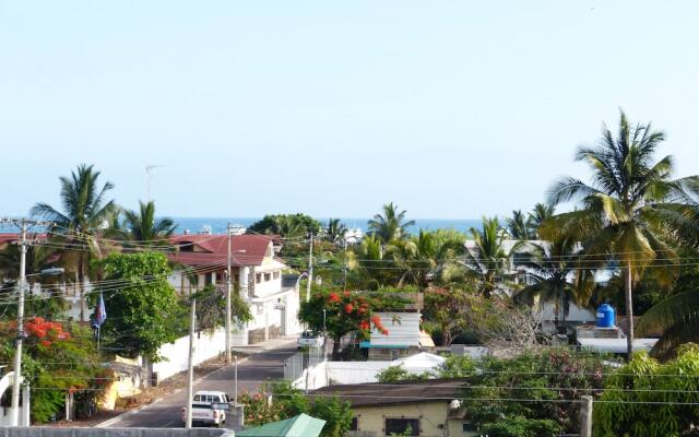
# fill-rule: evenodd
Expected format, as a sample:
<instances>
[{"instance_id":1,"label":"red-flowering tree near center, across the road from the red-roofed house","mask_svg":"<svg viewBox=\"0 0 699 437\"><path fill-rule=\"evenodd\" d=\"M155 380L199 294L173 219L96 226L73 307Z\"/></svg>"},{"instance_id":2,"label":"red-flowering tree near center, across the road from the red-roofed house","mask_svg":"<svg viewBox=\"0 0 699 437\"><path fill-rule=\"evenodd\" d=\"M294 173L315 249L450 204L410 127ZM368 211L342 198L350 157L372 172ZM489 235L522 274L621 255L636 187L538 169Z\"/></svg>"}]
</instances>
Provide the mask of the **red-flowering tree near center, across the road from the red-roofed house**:
<instances>
[{"instance_id":1,"label":"red-flowering tree near center, across the road from the red-roofed house","mask_svg":"<svg viewBox=\"0 0 699 437\"><path fill-rule=\"evenodd\" d=\"M408 302L394 292L350 292L339 290L316 290L309 302L304 302L298 314L301 322L316 333L323 333L333 340L332 355L340 355L340 339L356 332L359 339L368 339L374 329L383 335L389 330L376 315L382 310L400 310ZM323 309L324 327L323 327Z\"/></svg>"}]
</instances>

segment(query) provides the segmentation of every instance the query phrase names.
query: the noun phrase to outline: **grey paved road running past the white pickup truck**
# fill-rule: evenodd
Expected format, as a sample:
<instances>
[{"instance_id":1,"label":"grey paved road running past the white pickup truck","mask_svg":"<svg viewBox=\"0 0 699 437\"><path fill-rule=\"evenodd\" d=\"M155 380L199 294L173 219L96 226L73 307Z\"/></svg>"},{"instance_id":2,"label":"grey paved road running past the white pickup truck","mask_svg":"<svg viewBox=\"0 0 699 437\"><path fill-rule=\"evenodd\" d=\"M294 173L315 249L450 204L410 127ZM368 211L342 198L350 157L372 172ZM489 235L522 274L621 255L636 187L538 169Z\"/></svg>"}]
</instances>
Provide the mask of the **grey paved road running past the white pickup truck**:
<instances>
[{"instance_id":1,"label":"grey paved road running past the white pickup truck","mask_svg":"<svg viewBox=\"0 0 699 437\"><path fill-rule=\"evenodd\" d=\"M266 379L280 379L284 377L284 359L296 353L295 340L280 344L279 347L253 353L247 359L238 364L238 392L256 390L261 381ZM221 390L233 398L234 392L233 366L221 369L204 377L194 385L197 390ZM110 422L108 427L146 427L169 428L181 426L180 412L185 406L187 390L164 397L162 401L147 405L144 409L117 421Z\"/></svg>"}]
</instances>

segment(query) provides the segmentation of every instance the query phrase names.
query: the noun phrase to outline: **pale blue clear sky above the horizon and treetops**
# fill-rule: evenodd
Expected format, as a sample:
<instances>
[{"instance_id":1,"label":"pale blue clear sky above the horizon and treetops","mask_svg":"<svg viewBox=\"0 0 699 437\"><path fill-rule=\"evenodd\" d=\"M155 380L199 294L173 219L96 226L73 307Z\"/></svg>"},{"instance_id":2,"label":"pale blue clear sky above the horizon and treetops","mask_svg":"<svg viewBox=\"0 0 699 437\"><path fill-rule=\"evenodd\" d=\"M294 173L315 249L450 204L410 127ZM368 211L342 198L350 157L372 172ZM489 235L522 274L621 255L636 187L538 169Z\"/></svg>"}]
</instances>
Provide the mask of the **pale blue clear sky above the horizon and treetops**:
<instances>
[{"instance_id":1,"label":"pale blue clear sky above the horizon and treetops","mask_svg":"<svg viewBox=\"0 0 699 437\"><path fill-rule=\"evenodd\" d=\"M0 0L0 216L507 215L619 108L699 173L696 1Z\"/></svg>"}]
</instances>

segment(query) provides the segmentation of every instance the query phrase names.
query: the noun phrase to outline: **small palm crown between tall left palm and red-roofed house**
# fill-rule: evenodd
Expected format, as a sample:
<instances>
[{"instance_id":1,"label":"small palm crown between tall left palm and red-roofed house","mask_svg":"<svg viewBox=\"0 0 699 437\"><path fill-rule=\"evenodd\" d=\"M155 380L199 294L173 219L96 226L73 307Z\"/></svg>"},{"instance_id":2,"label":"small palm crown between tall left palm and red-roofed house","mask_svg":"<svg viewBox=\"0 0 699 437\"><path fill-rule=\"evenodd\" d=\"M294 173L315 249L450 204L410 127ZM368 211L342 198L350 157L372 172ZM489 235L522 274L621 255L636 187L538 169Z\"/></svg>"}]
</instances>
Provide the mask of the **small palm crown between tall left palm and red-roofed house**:
<instances>
[{"instance_id":1,"label":"small palm crown between tall left palm and red-roofed house","mask_svg":"<svg viewBox=\"0 0 699 437\"><path fill-rule=\"evenodd\" d=\"M147 249L168 245L167 238L173 235L177 225L171 218L155 218L155 203L139 201L139 211L123 211L123 224L115 231L125 241L127 248Z\"/></svg>"}]
</instances>

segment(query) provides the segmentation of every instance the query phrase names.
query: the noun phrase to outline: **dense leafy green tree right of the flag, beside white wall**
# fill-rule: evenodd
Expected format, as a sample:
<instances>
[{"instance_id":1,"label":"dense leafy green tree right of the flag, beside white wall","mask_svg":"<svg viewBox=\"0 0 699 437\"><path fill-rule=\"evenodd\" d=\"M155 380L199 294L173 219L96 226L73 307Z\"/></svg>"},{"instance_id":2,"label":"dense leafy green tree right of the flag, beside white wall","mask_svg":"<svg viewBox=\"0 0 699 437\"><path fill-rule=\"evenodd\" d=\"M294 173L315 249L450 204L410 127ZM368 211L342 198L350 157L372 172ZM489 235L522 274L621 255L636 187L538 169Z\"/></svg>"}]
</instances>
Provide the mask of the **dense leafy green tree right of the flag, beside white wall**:
<instances>
[{"instance_id":1,"label":"dense leafy green tree right of the flag, beside white wall","mask_svg":"<svg viewBox=\"0 0 699 437\"><path fill-rule=\"evenodd\" d=\"M158 252L111 253L102 267L105 280L120 286L103 294L108 315L102 327L105 342L126 356L157 359L158 347L185 331L175 288L167 282L167 258Z\"/></svg>"}]
</instances>

